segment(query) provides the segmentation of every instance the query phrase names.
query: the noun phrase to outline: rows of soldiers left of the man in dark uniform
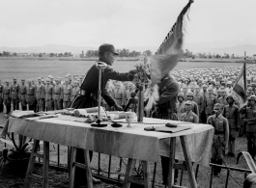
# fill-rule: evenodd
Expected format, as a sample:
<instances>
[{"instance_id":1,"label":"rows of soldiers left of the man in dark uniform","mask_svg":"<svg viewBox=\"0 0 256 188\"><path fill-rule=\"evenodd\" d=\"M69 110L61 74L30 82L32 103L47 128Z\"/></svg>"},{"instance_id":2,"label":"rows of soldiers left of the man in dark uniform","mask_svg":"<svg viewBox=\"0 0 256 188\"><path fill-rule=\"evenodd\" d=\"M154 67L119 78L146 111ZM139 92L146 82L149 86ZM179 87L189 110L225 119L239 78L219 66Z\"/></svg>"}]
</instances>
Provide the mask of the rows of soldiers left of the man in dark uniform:
<instances>
[{"instance_id":1,"label":"rows of soldiers left of the man in dark uniform","mask_svg":"<svg viewBox=\"0 0 256 188\"><path fill-rule=\"evenodd\" d=\"M11 113L12 105L13 110L19 109L19 103L22 110L39 111L52 111L68 108L71 100L79 93L79 81L66 79L61 82L59 78L53 80L49 77L46 82L42 78L38 78L38 82L32 82L21 79L21 84L17 83L16 78L11 84L6 81L3 85L0 80L0 113L6 106L6 114Z\"/></svg>"}]
</instances>

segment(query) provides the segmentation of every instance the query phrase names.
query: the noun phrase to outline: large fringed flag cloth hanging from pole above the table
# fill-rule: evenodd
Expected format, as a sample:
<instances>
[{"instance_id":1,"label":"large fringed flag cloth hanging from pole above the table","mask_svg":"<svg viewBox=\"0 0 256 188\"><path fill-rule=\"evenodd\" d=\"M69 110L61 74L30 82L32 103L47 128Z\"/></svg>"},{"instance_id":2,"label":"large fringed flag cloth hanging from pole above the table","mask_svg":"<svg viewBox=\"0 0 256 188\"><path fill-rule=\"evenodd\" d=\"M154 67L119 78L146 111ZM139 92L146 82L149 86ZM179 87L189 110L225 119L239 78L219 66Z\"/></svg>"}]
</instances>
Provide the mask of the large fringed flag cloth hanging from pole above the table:
<instances>
[{"instance_id":1,"label":"large fringed flag cloth hanging from pole above the table","mask_svg":"<svg viewBox=\"0 0 256 188\"><path fill-rule=\"evenodd\" d=\"M147 88L144 98L147 100L145 109L151 110L159 98L157 83L177 65L182 56L184 38L184 16L193 1L190 0L179 14L176 23L169 31L156 54L148 57L151 71L151 84Z\"/></svg>"}]
</instances>

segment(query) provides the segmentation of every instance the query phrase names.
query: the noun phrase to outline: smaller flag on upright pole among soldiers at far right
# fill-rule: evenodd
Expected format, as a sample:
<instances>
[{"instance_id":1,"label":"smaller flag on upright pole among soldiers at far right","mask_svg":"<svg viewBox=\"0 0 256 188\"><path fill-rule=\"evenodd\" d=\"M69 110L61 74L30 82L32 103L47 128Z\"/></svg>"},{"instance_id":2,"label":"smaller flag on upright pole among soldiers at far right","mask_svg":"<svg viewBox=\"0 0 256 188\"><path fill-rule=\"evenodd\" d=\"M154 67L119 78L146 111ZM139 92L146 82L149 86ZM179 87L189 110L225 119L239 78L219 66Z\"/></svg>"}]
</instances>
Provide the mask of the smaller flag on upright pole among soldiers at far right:
<instances>
[{"instance_id":1,"label":"smaller flag on upright pole among soldiers at far right","mask_svg":"<svg viewBox=\"0 0 256 188\"><path fill-rule=\"evenodd\" d=\"M233 91L239 95L240 106L242 106L246 102L246 99L247 99L246 93L245 93L245 81L244 81L245 80L244 76L245 76L245 71L246 71L245 64L246 63L244 62L240 76L238 77L237 83L235 84L235 86L233 88Z\"/></svg>"}]
</instances>

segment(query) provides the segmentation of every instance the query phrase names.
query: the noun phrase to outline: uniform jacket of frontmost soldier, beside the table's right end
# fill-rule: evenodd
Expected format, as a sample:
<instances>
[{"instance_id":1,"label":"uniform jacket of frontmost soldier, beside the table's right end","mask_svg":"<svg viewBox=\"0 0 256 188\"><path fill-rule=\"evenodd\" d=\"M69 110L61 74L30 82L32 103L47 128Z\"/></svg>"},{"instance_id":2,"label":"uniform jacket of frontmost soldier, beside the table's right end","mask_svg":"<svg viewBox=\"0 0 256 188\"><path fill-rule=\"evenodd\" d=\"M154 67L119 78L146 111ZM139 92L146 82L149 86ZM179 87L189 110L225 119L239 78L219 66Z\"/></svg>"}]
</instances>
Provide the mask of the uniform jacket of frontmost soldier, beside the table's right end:
<instances>
[{"instance_id":1,"label":"uniform jacket of frontmost soldier, beside the table's right end","mask_svg":"<svg viewBox=\"0 0 256 188\"><path fill-rule=\"evenodd\" d=\"M228 142L229 137L229 124L221 114L216 117L212 115L208 117L207 124L212 124L214 127L214 145L216 147L222 147L224 142Z\"/></svg>"}]
</instances>

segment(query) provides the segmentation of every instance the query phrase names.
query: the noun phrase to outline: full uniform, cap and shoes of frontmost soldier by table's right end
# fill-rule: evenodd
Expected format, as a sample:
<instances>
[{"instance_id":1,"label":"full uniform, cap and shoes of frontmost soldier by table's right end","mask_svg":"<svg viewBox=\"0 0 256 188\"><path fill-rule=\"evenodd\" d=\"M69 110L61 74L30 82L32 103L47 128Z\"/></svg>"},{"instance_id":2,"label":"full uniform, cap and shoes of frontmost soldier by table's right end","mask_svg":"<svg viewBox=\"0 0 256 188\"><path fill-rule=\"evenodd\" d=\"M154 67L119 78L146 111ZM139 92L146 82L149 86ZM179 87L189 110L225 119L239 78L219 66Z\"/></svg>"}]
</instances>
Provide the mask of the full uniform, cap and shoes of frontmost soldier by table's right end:
<instances>
[{"instance_id":1,"label":"full uniform, cap and shoes of frontmost soldier by table's right end","mask_svg":"<svg viewBox=\"0 0 256 188\"><path fill-rule=\"evenodd\" d=\"M212 115L207 119L207 124L212 124L214 127L213 147L212 147L212 163L222 165L225 146L229 137L229 124L221 114L221 105L216 103L214 108L218 108L219 115ZM221 168L214 167L213 174L219 175Z\"/></svg>"}]
</instances>

